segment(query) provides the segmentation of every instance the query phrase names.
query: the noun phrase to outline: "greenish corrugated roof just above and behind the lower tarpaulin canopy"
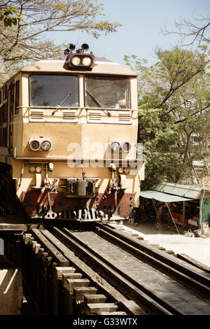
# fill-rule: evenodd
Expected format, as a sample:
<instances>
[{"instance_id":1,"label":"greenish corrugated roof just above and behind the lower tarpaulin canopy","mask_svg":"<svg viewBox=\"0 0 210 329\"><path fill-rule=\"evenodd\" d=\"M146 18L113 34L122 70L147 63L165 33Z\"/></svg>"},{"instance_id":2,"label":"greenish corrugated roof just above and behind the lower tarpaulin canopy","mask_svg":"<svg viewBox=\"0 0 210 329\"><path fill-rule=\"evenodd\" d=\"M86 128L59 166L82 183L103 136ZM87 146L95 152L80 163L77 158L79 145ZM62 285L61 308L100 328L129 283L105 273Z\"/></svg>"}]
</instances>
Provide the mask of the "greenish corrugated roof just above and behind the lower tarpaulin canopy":
<instances>
[{"instance_id":1,"label":"greenish corrugated roof just above and behind the lower tarpaulin canopy","mask_svg":"<svg viewBox=\"0 0 210 329\"><path fill-rule=\"evenodd\" d=\"M197 199L200 198L200 193L204 188L163 182L156 184L151 190L169 193L171 195L179 195L180 197L189 197L190 199ZM205 190L210 191L209 188L205 188Z\"/></svg>"}]
</instances>

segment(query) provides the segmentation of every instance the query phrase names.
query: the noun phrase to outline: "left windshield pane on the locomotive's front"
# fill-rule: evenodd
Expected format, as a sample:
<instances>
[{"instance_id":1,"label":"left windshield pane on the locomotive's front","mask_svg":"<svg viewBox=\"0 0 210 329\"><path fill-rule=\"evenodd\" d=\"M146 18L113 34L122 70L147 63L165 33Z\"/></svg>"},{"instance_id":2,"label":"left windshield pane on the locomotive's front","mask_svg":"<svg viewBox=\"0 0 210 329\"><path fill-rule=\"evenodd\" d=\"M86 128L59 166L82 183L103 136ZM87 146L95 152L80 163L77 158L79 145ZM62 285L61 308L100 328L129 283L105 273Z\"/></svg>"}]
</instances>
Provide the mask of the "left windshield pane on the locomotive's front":
<instances>
[{"instance_id":1,"label":"left windshield pane on the locomotive's front","mask_svg":"<svg viewBox=\"0 0 210 329\"><path fill-rule=\"evenodd\" d=\"M33 74L29 77L30 106L78 106L78 77Z\"/></svg>"}]
</instances>

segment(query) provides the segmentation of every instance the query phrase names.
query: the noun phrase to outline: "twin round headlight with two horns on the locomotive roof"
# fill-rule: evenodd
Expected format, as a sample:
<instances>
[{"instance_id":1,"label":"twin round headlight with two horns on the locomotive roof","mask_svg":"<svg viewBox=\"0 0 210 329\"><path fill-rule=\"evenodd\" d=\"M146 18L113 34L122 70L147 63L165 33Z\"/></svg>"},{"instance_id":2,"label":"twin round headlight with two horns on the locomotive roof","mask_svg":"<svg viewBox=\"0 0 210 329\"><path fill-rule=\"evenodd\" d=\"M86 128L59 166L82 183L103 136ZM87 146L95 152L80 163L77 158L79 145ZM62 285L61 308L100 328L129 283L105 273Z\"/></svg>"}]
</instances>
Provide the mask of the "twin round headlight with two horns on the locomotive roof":
<instances>
[{"instance_id":1,"label":"twin round headlight with two horns on the locomotive roof","mask_svg":"<svg viewBox=\"0 0 210 329\"><path fill-rule=\"evenodd\" d=\"M64 51L64 54L68 55L66 60L69 63L69 66L74 69L92 69L94 66L94 55L92 52L90 52L90 54L84 53L89 50L89 45L87 45L87 43L83 43L81 48L78 48L76 52L73 52L75 48L76 45L69 43L69 48L66 48Z\"/></svg>"}]
</instances>

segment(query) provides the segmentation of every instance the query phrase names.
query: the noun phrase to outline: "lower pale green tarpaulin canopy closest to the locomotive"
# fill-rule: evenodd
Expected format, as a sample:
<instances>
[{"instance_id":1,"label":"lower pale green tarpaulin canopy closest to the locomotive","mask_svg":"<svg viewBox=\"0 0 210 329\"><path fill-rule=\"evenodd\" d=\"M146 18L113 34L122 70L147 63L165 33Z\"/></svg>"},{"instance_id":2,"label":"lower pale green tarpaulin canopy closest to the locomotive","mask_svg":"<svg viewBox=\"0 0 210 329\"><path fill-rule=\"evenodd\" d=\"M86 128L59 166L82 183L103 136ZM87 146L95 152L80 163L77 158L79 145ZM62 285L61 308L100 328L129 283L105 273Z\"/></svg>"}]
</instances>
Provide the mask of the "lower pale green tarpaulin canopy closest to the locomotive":
<instances>
[{"instance_id":1,"label":"lower pale green tarpaulin canopy closest to the locomotive","mask_svg":"<svg viewBox=\"0 0 210 329\"><path fill-rule=\"evenodd\" d=\"M146 199L155 199L162 202L180 202L193 200L186 197L179 197L178 195L171 195L153 190L141 190L140 197L146 197Z\"/></svg>"}]
</instances>

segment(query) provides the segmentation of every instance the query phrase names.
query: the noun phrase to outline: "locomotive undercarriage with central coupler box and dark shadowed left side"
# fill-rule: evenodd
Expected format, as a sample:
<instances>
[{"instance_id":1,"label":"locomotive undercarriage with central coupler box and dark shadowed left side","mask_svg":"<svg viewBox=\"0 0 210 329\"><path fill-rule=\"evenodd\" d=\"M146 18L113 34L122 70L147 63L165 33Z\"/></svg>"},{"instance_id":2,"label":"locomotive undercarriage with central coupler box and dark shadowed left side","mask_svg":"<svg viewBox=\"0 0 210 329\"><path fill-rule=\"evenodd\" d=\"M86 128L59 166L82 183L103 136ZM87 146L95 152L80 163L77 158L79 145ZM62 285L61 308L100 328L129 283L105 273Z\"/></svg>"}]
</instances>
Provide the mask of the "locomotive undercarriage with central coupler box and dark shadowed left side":
<instances>
[{"instance_id":1,"label":"locomotive undercarriage with central coupler box and dark shadowed left side","mask_svg":"<svg viewBox=\"0 0 210 329\"><path fill-rule=\"evenodd\" d=\"M1 164L1 173L0 216L19 214L34 219L111 221L128 218L134 207L135 193L125 193L115 181L106 192L98 193L95 190L97 179L84 175L78 179L66 179L67 195L57 191L56 184L48 188L46 182L44 191L23 191L19 200L11 166Z\"/></svg>"}]
</instances>

